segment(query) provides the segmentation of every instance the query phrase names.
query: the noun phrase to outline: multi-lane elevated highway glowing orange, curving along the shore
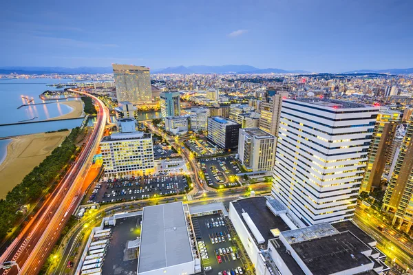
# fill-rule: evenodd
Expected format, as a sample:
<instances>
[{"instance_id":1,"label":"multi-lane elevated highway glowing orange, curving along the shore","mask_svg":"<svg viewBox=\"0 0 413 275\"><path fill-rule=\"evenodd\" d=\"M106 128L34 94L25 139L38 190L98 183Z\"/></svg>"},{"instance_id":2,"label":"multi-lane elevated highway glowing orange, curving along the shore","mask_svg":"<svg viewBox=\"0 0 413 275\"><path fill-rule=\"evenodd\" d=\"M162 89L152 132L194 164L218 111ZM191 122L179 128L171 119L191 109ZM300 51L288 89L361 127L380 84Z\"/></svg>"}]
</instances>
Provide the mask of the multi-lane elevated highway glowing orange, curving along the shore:
<instances>
[{"instance_id":1,"label":"multi-lane elevated highway glowing orange, curving along the shore","mask_svg":"<svg viewBox=\"0 0 413 275\"><path fill-rule=\"evenodd\" d=\"M78 203L81 202L83 192L87 188L88 183L83 179L87 176L92 164L92 157L102 138L108 113L105 105L98 98L91 97L94 98L98 109L94 131L89 135L83 150L61 184L45 201L32 221L22 230L17 241L14 241L1 256L2 261L17 261L21 267L21 274L37 274L39 272L54 243L59 239L61 230L65 227L65 223L70 219ZM15 267L1 272L4 275L18 273Z\"/></svg>"}]
</instances>

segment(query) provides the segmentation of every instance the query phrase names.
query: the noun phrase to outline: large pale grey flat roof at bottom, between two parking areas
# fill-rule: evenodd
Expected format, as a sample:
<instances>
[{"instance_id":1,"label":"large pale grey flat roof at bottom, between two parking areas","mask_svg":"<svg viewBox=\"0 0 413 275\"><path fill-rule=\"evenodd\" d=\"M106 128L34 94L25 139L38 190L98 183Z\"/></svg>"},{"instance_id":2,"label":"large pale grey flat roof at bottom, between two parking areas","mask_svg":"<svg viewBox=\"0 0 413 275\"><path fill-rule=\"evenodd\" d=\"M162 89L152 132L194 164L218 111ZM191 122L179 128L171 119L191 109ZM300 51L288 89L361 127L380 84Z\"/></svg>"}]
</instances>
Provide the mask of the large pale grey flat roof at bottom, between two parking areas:
<instances>
[{"instance_id":1,"label":"large pale grey flat roof at bottom, between two parking areas","mask_svg":"<svg viewBox=\"0 0 413 275\"><path fill-rule=\"evenodd\" d=\"M193 261L182 202L143 208L138 273Z\"/></svg>"}]
</instances>

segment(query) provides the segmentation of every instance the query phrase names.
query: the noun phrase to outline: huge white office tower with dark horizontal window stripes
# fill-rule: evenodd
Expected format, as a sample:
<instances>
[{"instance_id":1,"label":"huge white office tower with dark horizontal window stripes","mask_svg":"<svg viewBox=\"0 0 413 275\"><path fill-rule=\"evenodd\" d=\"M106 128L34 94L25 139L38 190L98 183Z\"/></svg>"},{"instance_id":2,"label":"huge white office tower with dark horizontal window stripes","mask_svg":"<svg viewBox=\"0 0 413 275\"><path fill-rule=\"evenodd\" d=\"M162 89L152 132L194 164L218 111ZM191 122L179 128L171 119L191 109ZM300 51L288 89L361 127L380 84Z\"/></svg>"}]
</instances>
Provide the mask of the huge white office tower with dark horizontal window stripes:
<instances>
[{"instance_id":1,"label":"huge white office tower with dark horizontal window stripes","mask_svg":"<svg viewBox=\"0 0 413 275\"><path fill-rule=\"evenodd\" d=\"M282 102L272 195L301 226L352 219L379 107Z\"/></svg>"}]
</instances>

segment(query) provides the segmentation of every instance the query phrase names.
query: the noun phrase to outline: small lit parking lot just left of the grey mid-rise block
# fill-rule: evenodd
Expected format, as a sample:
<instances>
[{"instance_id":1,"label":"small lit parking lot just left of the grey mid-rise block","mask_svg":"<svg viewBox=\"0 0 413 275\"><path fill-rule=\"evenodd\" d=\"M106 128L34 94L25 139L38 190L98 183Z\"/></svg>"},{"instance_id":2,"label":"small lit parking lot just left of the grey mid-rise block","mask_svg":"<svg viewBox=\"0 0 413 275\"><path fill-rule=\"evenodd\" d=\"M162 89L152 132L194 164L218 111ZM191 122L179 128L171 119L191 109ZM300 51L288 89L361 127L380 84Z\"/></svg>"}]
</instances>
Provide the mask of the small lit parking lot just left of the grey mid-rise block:
<instances>
[{"instance_id":1,"label":"small lit parking lot just left of the grey mid-rise block","mask_svg":"<svg viewBox=\"0 0 413 275\"><path fill-rule=\"evenodd\" d=\"M235 180L235 175L240 173L240 168L238 168L233 157L201 159L200 165L209 186L215 188L240 186Z\"/></svg>"}]
</instances>

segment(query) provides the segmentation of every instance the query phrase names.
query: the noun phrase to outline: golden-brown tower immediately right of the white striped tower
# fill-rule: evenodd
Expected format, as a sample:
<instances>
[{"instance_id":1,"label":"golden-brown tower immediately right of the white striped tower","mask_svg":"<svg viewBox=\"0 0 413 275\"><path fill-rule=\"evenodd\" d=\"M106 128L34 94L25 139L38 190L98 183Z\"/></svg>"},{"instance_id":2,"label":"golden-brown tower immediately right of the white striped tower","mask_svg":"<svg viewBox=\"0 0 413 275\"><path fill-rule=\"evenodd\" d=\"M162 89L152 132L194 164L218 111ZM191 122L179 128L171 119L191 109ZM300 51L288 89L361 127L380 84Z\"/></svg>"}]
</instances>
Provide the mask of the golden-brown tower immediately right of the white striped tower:
<instances>
[{"instance_id":1,"label":"golden-brown tower immediately right of the white striped tower","mask_svg":"<svg viewBox=\"0 0 413 275\"><path fill-rule=\"evenodd\" d=\"M399 111L382 111L377 115L372 142L368 149L368 161L360 188L361 192L370 192L372 188L380 187L381 176L400 122Z\"/></svg>"}]
</instances>

